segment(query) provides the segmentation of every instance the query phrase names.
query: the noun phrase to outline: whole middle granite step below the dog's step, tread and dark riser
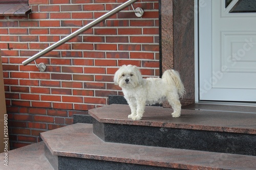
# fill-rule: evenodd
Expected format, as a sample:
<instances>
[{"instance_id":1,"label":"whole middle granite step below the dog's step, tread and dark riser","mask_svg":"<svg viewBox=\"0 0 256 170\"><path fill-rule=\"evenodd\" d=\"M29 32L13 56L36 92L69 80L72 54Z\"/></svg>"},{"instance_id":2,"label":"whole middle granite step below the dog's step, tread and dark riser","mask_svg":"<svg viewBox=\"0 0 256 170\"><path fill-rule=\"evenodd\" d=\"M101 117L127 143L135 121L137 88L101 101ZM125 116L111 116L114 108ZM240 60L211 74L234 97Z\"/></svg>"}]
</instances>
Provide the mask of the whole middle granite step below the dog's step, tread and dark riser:
<instances>
[{"instance_id":1,"label":"whole middle granite step below the dog's step, tread and dark riser","mask_svg":"<svg viewBox=\"0 0 256 170\"><path fill-rule=\"evenodd\" d=\"M92 124L41 133L54 169L256 169L256 157L104 142Z\"/></svg>"}]
</instances>

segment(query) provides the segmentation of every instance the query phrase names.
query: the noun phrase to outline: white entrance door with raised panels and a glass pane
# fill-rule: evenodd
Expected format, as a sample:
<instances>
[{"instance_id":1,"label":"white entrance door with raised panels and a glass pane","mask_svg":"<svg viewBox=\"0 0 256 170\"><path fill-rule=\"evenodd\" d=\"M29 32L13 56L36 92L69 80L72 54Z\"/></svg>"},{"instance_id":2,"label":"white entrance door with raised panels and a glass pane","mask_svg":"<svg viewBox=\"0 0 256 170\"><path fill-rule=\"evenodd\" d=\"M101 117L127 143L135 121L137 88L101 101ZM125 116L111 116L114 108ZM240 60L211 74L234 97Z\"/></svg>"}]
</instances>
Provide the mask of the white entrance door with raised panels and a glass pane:
<instances>
[{"instance_id":1,"label":"white entrance door with raised panels and a glass pane","mask_svg":"<svg viewBox=\"0 0 256 170\"><path fill-rule=\"evenodd\" d=\"M255 102L256 2L204 3L199 11L199 99Z\"/></svg>"}]
</instances>

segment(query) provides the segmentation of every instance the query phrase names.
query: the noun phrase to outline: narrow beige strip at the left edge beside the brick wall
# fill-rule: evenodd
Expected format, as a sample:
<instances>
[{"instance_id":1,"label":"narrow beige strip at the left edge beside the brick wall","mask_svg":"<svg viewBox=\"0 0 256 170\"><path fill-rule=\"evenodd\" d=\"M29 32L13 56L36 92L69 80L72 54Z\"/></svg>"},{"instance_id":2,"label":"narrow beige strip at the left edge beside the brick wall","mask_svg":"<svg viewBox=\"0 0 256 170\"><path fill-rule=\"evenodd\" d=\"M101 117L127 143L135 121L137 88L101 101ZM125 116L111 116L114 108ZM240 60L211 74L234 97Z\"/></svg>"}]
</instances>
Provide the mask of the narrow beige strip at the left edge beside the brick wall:
<instances>
[{"instance_id":1,"label":"narrow beige strip at the left edge beside the brick wall","mask_svg":"<svg viewBox=\"0 0 256 170\"><path fill-rule=\"evenodd\" d=\"M3 65L2 65L2 57L1 57L1 51L0 51L0 153L4 152L5 150L5 143L4 141L5 134L4 134L4 127L6 124L4 124L4 118L6 112L6 104L5 104L5 90L4 90L4 79L3 79ZM9 146L9 144L8 144Z\"/></svg>"}]
</instances>

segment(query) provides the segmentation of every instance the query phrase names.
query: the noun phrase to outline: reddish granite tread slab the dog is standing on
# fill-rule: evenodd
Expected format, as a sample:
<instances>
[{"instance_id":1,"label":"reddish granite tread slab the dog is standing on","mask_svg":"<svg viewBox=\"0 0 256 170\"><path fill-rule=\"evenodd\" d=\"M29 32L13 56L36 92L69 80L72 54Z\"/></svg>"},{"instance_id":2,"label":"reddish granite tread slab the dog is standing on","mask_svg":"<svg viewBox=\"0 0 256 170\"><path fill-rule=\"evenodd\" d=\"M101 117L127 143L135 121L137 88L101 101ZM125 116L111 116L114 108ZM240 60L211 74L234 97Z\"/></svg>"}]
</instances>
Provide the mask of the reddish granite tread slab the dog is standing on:
<instances>
[{"instance_id":1,"label":"reddish granite tread slab the dog is standing on","mask_svg":"<svg viewBox=\"0 0 256 170\"><path fill-rule=\"evenodd\" d=\"M182 109L181 116L173 118L173 109L146 106L142 119L132 120L127 117L130 112L128 105L117 104L89 110L100 123L256 134L252 113Z\"/></svg>"}]
</instances>

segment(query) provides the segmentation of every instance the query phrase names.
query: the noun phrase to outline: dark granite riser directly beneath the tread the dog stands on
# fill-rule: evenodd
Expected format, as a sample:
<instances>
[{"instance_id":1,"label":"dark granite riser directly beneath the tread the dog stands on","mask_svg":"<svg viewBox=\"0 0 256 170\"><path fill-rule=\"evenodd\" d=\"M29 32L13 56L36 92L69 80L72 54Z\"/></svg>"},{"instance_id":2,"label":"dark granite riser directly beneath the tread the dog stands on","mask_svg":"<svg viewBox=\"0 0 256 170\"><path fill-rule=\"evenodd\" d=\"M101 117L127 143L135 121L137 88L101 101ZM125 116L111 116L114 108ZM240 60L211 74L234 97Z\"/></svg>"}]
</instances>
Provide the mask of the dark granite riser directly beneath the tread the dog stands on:
<instances>
[{"instance_id":1,"label":"dark granite riser directly beneath the tread the dog stands on","mask_svg":"<svg viewBox=\"0 0 256 170\"><path fill-rule=\"evenodd\" d=\"M93 120L106 142L256 156L256 135L176 128L106 124Z\"/></svg>"}]
</instances>

